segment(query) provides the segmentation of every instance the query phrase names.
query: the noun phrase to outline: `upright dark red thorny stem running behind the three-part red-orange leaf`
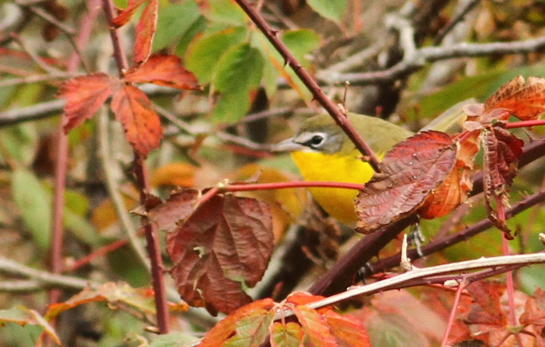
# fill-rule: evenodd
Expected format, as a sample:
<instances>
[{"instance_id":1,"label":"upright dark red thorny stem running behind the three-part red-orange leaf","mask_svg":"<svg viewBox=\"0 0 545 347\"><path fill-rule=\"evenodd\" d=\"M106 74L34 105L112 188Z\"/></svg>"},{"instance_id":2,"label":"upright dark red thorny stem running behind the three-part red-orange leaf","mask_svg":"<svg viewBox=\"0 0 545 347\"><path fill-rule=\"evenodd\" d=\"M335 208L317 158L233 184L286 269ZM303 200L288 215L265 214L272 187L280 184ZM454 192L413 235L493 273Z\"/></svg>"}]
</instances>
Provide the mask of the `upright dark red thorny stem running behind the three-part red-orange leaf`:
<instances>
[{"instance_id":1,"label":"upright dark red thorny stem running behind the three-part red-orange leaf","mask_svg":"<svg viewBox=\"0 0 545 347\"><path fill-rule=\"evenodd\" d=\"M102 7L104 8L108 23L111 23L115 15L112 0L102 0ZM113 27L110 28L110 36L112 39L114 50L113 54L114 58L116 59L119 75L122 76L124 71L126 71L126 69L129 67L128 60L120 42L119 33ZM135 175L138 188L140 189L141 204L146 205L146 196L149 192L149 178L146 163L144 158L142 158L136 152L134 158ZM162 264L157 227L153 223L147 223L145 217L142 217L142 225L144 228L144 233L146 234L146 248L151 261L157 327L159 333L164 334L168 332L168 307L163 276L165 269Z\"/></svg>"}]
</instances>

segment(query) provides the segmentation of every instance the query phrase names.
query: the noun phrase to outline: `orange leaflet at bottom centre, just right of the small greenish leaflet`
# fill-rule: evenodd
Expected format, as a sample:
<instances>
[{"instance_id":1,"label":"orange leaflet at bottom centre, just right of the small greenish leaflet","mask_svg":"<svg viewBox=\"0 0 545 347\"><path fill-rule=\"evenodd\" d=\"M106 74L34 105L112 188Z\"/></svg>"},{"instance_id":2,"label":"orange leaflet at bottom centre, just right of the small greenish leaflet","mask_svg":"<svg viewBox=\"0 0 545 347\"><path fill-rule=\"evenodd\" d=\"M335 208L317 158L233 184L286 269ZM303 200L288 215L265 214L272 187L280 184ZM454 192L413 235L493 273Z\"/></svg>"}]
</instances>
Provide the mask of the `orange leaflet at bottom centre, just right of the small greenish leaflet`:
<instances>
[{"instance_id":1,"label":"orange leaflet at bottom centre, just right of the small greenish leaflet","mask_svg":"<svg viewBox=\"0 0 545 347\"><path fill-rule=\"evenodd\" d=\"M306 337L313 345L337 347L337 341L331 334L328 322L315 309L306 306L296 306L293 313L299 320Z\"/></svg>"}]
</instances>

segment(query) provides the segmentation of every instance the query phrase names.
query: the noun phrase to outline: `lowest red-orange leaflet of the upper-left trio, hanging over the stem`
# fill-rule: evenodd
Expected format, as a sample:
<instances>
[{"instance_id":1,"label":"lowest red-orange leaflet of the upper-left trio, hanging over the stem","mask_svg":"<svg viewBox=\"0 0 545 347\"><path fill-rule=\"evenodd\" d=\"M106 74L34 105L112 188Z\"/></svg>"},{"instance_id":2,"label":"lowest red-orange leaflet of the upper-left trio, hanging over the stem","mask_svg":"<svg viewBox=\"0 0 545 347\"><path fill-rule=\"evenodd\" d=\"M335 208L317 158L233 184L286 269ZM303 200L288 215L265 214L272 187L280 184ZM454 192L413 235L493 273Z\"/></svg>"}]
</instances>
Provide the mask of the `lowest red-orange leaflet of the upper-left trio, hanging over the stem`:
<instances>
[{"instance_id":1,"label":"lowest red-orange leaflet of the upper-left trio, hanging over the stem","mask_svg":"<svg viewBox=\"0 0 545 347\"><path fill-rule=\"evenodd\" d=\"M146 157L159 146L163 136L161 121L140 89L130 85L119 88L113 94L111 107L123 124L127 141L140 156Z\"/></svg>"}]
</instances>

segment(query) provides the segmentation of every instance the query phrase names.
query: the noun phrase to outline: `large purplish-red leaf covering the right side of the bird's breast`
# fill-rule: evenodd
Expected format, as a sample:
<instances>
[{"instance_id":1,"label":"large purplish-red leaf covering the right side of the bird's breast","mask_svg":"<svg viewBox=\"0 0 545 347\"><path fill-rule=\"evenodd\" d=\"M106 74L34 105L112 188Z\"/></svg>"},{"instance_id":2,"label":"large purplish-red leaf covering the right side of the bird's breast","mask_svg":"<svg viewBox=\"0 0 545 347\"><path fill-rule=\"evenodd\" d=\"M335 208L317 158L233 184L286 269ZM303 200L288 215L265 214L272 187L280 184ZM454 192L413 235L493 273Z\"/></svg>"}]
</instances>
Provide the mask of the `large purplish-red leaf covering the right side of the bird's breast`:
<instances>
[{"instance_id":1,"label":"large purplish-red leaf covering the right side of the bird's breast","mask_svg":"<svg viewBox=\"0 0 545 347\"><path fill-rule=\"evenodd\" d=\"M425 131L391 149L356 198L356 231L371 233L418 209L456 163L449 135Z\"/></svg>"}]
</instances>

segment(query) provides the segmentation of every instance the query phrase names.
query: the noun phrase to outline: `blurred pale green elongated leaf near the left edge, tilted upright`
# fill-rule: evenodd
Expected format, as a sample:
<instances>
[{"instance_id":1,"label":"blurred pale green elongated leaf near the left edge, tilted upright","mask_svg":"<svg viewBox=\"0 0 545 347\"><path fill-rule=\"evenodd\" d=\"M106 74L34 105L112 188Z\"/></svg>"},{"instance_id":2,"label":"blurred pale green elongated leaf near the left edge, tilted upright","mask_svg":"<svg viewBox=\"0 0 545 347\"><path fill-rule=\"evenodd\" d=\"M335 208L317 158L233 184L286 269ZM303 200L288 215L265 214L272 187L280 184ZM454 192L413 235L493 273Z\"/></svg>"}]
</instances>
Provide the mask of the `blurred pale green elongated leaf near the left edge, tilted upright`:
<instances>
[{"instance_id":1,"label":"blurred pale green elongated leaf near the left edge, tilted upright","mask_svg":"<svg viewBox=\"0 0 545 347\"><path fill-rule=\"evenodd\" d=\"M32 172L25 169L15 169L11 175L11 193L34 241L39 248L47 249L51 230L51 194Z\"/></svg>"}]
</instances>

